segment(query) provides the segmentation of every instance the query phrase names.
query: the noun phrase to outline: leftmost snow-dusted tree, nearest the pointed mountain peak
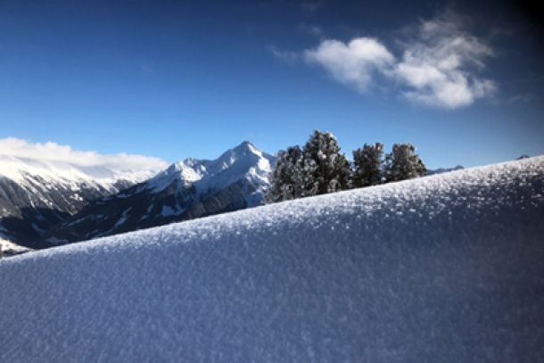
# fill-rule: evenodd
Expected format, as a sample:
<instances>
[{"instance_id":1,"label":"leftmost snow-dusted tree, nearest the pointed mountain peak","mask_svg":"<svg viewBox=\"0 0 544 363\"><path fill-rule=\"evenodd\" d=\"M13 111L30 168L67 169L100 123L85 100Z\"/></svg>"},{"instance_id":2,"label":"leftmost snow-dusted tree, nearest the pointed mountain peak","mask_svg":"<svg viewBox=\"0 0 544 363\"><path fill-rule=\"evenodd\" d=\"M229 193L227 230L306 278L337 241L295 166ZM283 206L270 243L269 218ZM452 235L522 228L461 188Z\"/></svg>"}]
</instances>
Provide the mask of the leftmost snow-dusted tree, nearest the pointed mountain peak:
<instances>
[{"instance_id":1,"label":"leftmost snow-dusted tree, nearest the pointed mountain peak","mask_svg":"<svg viewBox=\"0 0 544 363\"><path fill-rule=\"evenodd\" d=\"M289 201L301 197L302 153L299 145L277 153L276 166L270 175L265 203Z\"/></svg>"}]
</instances>

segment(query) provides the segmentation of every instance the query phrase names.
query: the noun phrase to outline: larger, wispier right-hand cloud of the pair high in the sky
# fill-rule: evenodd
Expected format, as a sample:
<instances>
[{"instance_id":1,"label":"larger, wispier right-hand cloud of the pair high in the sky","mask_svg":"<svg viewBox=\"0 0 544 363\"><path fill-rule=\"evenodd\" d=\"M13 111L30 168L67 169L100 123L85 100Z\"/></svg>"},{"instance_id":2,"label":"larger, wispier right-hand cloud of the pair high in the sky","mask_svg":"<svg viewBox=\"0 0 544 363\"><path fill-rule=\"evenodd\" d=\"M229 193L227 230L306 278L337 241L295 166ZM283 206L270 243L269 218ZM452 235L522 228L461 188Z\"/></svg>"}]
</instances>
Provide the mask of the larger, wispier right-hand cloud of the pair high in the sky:
<instances>
[{"instance_id":1,"label":"larger, wispier right-hand cloud of the pair high in the sky","mask_svg":"<svg viewBox=\"0 0 544 363\"><path fill-rule=\"evenodd\" d=\"M463 21L455 14L423 21L416 38L404 48L395 75L408 88L402 93L409 100L457 108L497 89L495 82L477 75L493 51L463 30Z\"/></svg>"}]
</instances>

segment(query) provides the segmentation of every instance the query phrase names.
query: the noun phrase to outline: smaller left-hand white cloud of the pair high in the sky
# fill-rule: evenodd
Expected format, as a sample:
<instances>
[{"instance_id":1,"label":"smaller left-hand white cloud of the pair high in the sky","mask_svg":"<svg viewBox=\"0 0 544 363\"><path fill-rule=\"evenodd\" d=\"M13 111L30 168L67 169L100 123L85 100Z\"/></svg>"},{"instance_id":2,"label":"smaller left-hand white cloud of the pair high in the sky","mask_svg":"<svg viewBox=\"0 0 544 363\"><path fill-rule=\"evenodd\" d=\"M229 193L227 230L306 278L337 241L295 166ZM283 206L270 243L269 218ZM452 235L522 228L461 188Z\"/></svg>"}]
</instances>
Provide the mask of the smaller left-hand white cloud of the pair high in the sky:
<instances>
[{"instance_id":1,"label":"smaller left-hand white cloud of the pair high in the sky","mask_svg":"<svg viewBox=\"0 0 544 363\"><path fill-rule=\"evenodd\" d=\"M305 58L328 70L333 77L365 92L375 70L390 67L393 55L374 38L359 37L344 44L338 40L325 40L316 49L307 50Z\"/></svg>"}]
</instances>

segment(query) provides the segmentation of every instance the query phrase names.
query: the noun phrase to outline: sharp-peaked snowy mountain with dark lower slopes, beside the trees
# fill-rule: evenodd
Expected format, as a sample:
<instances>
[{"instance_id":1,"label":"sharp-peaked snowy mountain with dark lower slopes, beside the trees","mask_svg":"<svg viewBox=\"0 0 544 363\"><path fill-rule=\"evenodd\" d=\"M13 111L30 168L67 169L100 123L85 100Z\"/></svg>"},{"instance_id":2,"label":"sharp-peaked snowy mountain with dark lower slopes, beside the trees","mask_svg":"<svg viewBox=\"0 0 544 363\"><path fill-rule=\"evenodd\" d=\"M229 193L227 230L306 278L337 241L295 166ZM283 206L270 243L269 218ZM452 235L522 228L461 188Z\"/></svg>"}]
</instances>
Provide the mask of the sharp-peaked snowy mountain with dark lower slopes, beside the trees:
<instances>
[{"instance_id":1,"label":"sharp-peaked snowy mountain with dark lower slopes, beside the trees","mask_svg":"<svg viewBox=\"0 0 544 363\"><path fill-rule=\"evenodd\" d=\"M276 157L243 142L213 161L185 159L89 204L44 235L55 245L259 205Z\"/></svg>"}]
</instances>

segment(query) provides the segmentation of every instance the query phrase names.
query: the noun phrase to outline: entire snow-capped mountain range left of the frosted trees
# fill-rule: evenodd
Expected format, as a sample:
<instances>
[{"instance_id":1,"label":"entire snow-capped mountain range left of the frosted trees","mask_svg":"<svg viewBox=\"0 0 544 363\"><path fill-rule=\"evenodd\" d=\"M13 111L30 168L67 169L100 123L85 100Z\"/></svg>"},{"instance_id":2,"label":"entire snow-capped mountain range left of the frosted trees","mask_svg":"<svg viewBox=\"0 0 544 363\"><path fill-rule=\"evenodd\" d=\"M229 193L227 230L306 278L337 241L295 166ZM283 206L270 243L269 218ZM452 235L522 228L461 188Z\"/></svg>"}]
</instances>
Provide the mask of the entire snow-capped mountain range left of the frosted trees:
<instances>
[{"instance_id":1,"label":"entire snow-capped mountain range left of the frosted trees","mask_svg":"<svg viewBox=\"0 0 544 363\"><path fill-rule=\"evenodd\" d=\"M276 162L249 142L158 173L1 158L0 238L30 248L259 205Z\"/></svg>"}]
</instances>

